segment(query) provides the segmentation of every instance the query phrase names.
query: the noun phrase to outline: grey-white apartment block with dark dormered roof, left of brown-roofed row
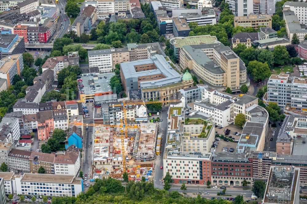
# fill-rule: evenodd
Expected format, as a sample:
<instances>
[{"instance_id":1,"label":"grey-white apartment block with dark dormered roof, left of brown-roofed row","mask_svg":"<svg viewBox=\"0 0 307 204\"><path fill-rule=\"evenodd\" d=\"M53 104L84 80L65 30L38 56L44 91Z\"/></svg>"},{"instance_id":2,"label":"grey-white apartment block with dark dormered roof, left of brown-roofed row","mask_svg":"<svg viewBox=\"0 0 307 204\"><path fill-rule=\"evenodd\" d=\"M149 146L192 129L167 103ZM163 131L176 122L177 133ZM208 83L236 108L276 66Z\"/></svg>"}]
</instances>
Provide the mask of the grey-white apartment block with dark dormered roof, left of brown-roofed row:
<instances>
[{"instance_id":1,"label":"grey-white apartment block with dark dormered roof, left of brown-roofed row","mask_svg":"<svg viewBox=\"0 0 307 204\"><path fill-rule=\"evenodd\" d=\"M15 173L30 173L30 161L31 156L30 151L21 150L21 149L11 149L8 161L11 171Z\"/></svg>"}]
</instances>

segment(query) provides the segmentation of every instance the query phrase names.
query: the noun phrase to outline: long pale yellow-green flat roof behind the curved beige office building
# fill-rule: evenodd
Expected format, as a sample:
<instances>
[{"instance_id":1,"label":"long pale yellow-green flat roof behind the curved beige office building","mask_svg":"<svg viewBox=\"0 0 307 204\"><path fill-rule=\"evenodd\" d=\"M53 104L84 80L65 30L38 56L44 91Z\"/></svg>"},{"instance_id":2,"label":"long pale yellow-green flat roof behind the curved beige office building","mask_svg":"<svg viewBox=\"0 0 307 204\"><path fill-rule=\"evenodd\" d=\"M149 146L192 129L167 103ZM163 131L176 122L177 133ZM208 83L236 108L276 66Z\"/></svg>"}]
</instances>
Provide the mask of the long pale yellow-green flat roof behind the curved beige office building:
<instances>
[{"instance_id":1,"label":"long pale yellow-green flat roof behind the curved beige office building","mask_svg":"<svg viewBox=\"0 0 307 204\"><path fill-rule=\"evenodd\" d=\"M183 47L184 45L199 45L199 44L212 44L220 43L216 36L203 35L203 36L190 36L190 37L175 37L170 40L170 43L175 47Z\"/></svg>"}]
</instances>

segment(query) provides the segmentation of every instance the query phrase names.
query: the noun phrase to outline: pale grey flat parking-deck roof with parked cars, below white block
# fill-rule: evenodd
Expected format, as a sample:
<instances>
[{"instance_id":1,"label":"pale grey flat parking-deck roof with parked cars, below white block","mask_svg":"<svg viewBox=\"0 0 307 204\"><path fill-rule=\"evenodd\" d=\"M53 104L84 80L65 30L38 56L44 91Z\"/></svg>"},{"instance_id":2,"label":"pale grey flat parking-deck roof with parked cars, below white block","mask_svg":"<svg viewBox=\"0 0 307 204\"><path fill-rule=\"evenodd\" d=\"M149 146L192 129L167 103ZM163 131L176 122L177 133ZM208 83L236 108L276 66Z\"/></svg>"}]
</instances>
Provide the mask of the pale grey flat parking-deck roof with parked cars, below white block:
<instances>
[{"instance_id":1,"label":"pale grey flat parking-deck roof with parked cars, below white block","mask_svg":"<svg viewBox=\"0 0 307 204\"><path fill-rule=\"evenodd\" d=\"M111 88L107 88L107 86L109 86L110 83L110 79L111 77L115 76L115 73L105 73L105 74L97 74L98 79L94 80L94 75L93 76L81 76L82 79L82 83L84 85L83 89L84 89L84 94L85 95L95 95L97 93L113 93L113 91L109 91L111 90ZM100 77L102 77L100 79ZM107 77L107 78L104 78ZM90 81L91 83L93 82L95 87L100 85L100 89L95 89L95 92L91 92L91 87L90 87ZM108 82L107 82L108 81Z\"/></svg>"}]
</instances>

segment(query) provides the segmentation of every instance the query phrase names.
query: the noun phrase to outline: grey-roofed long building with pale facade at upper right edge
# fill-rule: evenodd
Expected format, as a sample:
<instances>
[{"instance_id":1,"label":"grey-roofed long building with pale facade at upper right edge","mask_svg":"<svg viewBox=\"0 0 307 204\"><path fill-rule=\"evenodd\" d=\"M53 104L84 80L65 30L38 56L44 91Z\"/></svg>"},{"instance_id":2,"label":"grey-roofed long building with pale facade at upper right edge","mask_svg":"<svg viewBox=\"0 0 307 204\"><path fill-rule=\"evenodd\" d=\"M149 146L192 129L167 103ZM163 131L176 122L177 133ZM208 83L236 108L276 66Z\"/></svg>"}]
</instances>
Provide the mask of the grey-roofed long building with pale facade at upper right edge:
<instances>
[{"instance_id":1,"label":"grey-roofed long building with pale facade at upper right edge","mask_svg":"<svg viewBox=\"0 0 307 204\"><path fill-rule=\"evenodd\" d=\"M283 19L286 20L287 34L290 41L292 41L294 33L296 33L300 42L305 40L304 37L307 34L307 30L305 29L305 25L300 23L294 11L290 9L283 10Z\"/></svg>"}]
</instances>

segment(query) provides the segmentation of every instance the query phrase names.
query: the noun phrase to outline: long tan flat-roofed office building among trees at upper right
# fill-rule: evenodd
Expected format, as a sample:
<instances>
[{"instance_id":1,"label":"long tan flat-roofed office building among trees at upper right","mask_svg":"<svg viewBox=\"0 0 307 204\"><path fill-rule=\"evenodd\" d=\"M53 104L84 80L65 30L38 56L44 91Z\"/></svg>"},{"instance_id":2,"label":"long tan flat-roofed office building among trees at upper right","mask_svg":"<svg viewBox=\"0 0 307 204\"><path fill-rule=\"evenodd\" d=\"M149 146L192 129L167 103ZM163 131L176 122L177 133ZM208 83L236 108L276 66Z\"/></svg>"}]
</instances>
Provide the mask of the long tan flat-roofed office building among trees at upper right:
<instances>
[{"instance_id":1,"label":"long tan flat-roofed office building among trees at upper right","mask_svg":"<svg viewBox=\"0 0 307 204\"><path fill-rule=\"evenodd\" d=\"M234 27L241 26L243 28L269 27L272 28L272 19L267 14L248 14L247 16L235 16Z\"/></svg>"}]
</instances>

